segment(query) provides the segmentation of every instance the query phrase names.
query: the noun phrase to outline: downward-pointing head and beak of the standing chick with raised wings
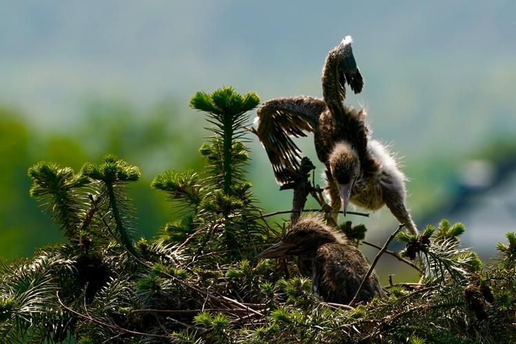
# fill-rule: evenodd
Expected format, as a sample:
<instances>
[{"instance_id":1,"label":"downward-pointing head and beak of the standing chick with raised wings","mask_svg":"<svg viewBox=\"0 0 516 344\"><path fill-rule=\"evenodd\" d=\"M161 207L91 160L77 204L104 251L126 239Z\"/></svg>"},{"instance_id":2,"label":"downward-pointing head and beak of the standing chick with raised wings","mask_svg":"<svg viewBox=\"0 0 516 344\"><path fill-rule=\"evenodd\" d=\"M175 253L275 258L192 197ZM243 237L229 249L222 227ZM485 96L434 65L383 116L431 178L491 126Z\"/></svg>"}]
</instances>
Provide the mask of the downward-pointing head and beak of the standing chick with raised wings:
<instances>
[{"instance_id":1,"label":"downward-pointing head and beak of the standing chick with raised wings","mask_svg":"<svg viewBox=\"0 0 516 344\"><path fill-rule=\"evenodd\" d=\"M361 171L360 160L356 151L346 142L335 144L329 158L330 172L337 183L338 195L341 197L344 215L350 203L351 190Z\"/></svg>"}]
</instances>

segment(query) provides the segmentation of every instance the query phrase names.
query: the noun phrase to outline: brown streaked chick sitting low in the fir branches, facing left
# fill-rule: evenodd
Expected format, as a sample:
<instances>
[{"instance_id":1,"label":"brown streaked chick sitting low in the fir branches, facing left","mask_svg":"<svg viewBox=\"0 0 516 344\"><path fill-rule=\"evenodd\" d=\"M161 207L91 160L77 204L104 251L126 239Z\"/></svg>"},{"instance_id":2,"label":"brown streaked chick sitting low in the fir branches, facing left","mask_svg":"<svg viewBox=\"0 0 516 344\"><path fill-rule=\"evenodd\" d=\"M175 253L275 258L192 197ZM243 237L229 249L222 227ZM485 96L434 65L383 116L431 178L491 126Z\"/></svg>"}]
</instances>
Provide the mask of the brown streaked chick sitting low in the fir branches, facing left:
<instances>
[{"instance_id":1,"label":"brown streaked chick sitting low in the fir branches, facing left","mask_svg":"<svg viewBox=\"0 0 516 344\"><path fill-rule=\"evenodd\" d=\"M312 279L312 292L326 302L348 304L369 270L362 253L320 217L305 217L290 228L279 243L259 258L297 256L301 275ZM373 272L356 301L370 301L385 294Z\"/></svg>"}]
</instances>

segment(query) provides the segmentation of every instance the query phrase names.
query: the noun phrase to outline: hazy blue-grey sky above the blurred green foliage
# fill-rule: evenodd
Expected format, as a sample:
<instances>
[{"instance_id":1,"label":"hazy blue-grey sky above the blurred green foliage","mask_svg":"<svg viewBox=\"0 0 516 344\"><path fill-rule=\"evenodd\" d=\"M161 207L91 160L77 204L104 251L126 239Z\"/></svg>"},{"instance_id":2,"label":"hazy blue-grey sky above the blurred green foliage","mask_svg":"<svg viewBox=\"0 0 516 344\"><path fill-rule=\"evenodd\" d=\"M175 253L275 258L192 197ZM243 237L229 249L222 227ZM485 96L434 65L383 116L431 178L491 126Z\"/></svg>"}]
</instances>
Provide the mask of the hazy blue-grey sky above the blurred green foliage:
<instances>
[{"instance_id":1,"label":"hazy blue-grey sky above the blurred green foliage","mask_svg":"<svg viewBox=\"0 0 516 344\"><path fill-rule=\"evenodd\" d=\"M0 0L0 104L42 131L76 125L92 99L136 109L169 99L180 125L202 125L184 120L200 89L321 96L325 56L351 34L366 85L348 101L417 169L515 136L515 14L514 1ZM252 149L267 202L277 186ZM413 193L427 181L411 183ZM288 208L290 195L278 197Z\"/></svg>"}]
</instances>

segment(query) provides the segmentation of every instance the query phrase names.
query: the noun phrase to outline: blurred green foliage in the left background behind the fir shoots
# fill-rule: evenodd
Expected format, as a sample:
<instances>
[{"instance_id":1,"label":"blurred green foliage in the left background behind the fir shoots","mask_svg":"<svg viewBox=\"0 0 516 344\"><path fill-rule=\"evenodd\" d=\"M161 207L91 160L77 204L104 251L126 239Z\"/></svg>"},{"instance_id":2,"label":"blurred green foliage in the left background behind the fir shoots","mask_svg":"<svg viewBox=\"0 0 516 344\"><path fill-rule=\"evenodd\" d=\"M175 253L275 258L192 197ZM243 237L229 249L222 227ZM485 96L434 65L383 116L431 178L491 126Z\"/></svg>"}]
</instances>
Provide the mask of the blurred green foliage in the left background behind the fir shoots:
<instances>
[{"instance_id":1,"label":"blurred green foliage in the left background behind the fir shoots","mask_svg":"<svg viewBox=\"0 0 516 344\"><path fill-rule=\"evenodd\" d=\"M169 166L201 166L198 155L183 152L200 144L202 128L191 128L187 134L182 126L188 118L181 118L168 103L146 114L136 114L126 104L89 103L83 117L66 132L39 131L17 111L0 109L0 258L30 256L34 247L62 240L57 226L51 226L28 194L20 192L29 189L24 175L36 160L79 169L109 152L145 166L128 190L137 209L136 234L145 236L155 235L171 213L162 197L147 192L153 175Z\"/></svg>"}]
</instances>

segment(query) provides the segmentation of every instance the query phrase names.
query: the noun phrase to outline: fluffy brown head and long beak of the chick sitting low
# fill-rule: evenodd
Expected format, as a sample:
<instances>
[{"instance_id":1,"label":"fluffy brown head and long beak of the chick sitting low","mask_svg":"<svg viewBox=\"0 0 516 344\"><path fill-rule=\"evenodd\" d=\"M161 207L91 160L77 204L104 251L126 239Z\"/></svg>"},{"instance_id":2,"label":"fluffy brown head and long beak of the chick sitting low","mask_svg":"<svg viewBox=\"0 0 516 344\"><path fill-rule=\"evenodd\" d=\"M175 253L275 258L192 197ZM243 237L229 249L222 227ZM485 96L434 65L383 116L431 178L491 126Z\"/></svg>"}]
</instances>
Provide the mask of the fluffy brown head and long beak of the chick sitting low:
<instances>
[{"instance_id":1,"label":"fluffy brown head and long beak of the chick sitting low","mask_svg":"<svg viewBox=\"0 0 516 344\"><path fill-rule=\"evenodd\" d=\"M344 242L341 234L326 226L321 217L305 217L290 228L283 240L261 252L259 258L303 255L330 242Z\"/></svg>"}]
</instances>

